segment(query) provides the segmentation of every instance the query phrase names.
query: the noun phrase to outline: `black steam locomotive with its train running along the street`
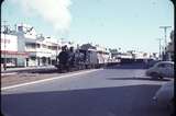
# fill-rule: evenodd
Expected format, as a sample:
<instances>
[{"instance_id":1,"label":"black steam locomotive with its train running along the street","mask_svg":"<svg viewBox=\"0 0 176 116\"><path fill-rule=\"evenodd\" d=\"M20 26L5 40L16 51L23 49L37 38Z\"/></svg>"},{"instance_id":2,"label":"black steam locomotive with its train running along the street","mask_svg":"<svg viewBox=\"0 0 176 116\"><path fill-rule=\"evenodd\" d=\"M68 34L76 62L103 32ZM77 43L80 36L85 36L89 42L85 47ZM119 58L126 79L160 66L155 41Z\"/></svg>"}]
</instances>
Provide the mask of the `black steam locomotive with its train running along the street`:
<instances>
[{"instance_id":1,"label":"black steam locomotive with its train running along the street","mask_svg":"<svg viewBox=\"0 0 176 116\"><path fill-rule=\"evenodd\" d=\"M67 53L69 56L69 51ZM57 62L55 67L59 72L84 70L91 68L102 68L110 61L110 54L108 51L96 49L76 49L68 58L64 58L66 61L62 63L61 58L57 56Z\"/></svg>"}]
</instances>

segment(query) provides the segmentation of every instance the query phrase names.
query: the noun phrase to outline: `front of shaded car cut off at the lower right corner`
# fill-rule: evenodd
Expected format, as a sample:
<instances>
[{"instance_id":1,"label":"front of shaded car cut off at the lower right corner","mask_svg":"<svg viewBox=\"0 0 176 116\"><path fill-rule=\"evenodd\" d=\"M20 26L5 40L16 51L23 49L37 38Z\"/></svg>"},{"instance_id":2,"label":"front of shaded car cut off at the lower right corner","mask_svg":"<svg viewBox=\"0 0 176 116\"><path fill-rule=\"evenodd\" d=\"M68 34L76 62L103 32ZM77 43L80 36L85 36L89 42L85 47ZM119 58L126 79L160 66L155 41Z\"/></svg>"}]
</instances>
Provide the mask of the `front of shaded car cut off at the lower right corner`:
<instances>
[{"instance_id":1,"label":"front of shaded car cut off at the lower right corner","mask_svg":"<svg viewBox=\"0 0 176 116\"><path fill-rule=\"evenodd\" d=\"M164 83L153 96L156 104L166 106L170 114L174 113L174 80Z\"/></svg>"}]
</instances>

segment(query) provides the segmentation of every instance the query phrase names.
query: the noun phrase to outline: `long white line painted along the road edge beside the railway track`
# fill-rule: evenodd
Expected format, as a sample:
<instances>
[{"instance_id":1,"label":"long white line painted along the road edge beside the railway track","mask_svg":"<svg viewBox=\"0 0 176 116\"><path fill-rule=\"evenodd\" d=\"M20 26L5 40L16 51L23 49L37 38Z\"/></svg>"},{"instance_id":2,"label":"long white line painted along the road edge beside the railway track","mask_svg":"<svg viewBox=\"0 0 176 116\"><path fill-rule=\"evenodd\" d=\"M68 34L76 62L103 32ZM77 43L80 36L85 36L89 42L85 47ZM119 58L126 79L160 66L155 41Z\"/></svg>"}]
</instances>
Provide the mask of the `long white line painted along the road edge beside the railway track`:
<instances>
[{"instance_id":1,"label":"long white line painted along the road edge beside the railway track","mask_svg":"<svg viewBox=\"0 0 176 116\"><path fill-rule=\"evenodd\" d=\"M94 69L94 70L81 71L81 72L77 72L77 73L68 73L68 74L64 74L64 76L61 76L61 77L54 77L54 78L50 78L50 79L43 79L43 80L37 80L37 81L32 81L32 82L15 84L15 85L9 85L9 86L1 88L1 91L13 89L13 88L19 88L19 86L24 86L24 85L30 85L30 84L42 83L42 82L46 82L46 81L52 81L52 80L55 80L55 79L69 78L69 77L74 77L74 76L90 73L90 72L95 72L95 71L98 71L98 70L102 70L102 69Z\"/></svg>"}]
</instances>

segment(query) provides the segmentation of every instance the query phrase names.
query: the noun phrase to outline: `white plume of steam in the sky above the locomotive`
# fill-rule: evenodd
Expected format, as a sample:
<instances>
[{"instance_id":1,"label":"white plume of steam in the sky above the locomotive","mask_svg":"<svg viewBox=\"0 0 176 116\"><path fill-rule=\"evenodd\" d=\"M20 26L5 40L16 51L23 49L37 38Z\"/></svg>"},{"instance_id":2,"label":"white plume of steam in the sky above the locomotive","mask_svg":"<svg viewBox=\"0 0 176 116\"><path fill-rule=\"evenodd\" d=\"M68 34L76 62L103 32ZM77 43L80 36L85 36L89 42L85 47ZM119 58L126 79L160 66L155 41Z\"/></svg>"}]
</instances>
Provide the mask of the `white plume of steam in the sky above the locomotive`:
<instances>
[{"instance_id":1,"label":"white plume of steam in the sky above the locomotive","mask_svg":"<svg viewBox=\"0 0 176 116\"><path fill-rule=\"evenodd\" d=\"M26 13L36 13L51 23L55 31L67 31L72 21L70 0L13 0Z\"/></svg>"}]
</instances>

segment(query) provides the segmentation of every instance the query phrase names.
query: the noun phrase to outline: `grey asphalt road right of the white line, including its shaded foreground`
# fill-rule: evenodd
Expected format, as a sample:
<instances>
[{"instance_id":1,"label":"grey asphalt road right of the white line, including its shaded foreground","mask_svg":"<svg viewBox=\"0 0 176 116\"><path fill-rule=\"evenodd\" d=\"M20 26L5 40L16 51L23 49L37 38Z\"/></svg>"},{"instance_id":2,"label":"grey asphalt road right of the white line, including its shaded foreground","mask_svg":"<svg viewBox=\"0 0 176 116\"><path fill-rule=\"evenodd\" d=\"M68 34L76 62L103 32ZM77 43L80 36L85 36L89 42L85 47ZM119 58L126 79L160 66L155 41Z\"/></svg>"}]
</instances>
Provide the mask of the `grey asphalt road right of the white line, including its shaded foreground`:
<instances>
[{"instance_id":1,"label":"grey asphalt road right of the white line, including its shaded foreground","mask_svg":"<svg viewBox=\"0 0 176 116\"><path fill-rule=\"evenodd\" d=\"M98 69L1 90L4 116L169 116L152 101L169 80L145 69Z\"/></svg>"}]
</instances>

